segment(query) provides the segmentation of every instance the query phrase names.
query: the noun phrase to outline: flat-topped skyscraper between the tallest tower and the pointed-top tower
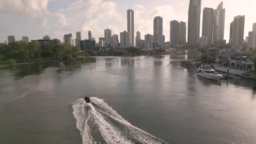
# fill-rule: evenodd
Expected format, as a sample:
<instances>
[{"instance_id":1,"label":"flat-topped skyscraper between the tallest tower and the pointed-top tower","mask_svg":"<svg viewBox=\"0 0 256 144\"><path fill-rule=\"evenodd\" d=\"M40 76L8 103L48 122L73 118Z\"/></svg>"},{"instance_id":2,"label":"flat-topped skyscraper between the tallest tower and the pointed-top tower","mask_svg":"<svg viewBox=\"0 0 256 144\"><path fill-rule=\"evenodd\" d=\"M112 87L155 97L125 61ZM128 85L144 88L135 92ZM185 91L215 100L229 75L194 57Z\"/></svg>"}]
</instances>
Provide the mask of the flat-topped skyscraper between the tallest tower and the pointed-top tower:
<instances>
[{"instance_id":1,"label":"flat-topped skyscraper between the tallest tower and the pointed-top tower","mask_svg":"<svg viewBox=\"0 0 256 144\"><path fill-rule=\"evenodd\" d=\"M214 10L212 8L203 9L202 36L207 37L207 44L213 44L213 33L215 26Z\"/></svg>"}]
</instances>

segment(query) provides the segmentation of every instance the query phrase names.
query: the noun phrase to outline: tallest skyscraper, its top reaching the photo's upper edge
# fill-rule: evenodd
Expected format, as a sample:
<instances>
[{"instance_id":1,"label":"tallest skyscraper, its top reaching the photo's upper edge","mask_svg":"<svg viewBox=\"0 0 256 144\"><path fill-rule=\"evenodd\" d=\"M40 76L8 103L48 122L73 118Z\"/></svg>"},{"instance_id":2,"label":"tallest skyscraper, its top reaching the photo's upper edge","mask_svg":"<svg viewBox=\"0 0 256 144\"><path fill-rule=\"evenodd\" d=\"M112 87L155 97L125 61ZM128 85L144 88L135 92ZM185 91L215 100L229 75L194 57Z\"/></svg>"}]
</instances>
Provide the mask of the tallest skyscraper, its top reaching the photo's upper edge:
<instances>
[{"instance_id":1,"label":"tallest skyscraper, its top reaching the photo's upper edge","mask_svg":"<svg viewBox=\"0 0 256 144\"><path fill-rule=\"evenodd\" d=\"M199 44L201 0L190 0L188 11L188 44Z\"/></svg>"}]
</instances>

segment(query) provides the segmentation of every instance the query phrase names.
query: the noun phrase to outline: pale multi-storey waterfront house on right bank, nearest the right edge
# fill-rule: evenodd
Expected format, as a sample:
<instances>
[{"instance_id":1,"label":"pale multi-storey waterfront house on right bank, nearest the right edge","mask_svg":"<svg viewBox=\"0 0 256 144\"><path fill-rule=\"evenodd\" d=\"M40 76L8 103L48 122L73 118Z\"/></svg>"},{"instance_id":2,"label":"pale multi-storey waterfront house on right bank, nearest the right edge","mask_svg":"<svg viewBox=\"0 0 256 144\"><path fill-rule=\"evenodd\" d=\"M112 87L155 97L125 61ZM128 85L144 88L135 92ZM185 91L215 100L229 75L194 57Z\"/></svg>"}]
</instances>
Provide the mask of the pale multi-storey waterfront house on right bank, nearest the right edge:
<instances>
[{"instance_id":1,"label":"pale multi-storey waterfront house on right bank, nearest the right edge","mask_svg":"<svg viewBox=\"0 0 256 144\"><path fill-rule=\"evenodd\" d=\"M254 70L253 55L235 54L230 56L230 68Z\"/></svg>"}]
</instances>

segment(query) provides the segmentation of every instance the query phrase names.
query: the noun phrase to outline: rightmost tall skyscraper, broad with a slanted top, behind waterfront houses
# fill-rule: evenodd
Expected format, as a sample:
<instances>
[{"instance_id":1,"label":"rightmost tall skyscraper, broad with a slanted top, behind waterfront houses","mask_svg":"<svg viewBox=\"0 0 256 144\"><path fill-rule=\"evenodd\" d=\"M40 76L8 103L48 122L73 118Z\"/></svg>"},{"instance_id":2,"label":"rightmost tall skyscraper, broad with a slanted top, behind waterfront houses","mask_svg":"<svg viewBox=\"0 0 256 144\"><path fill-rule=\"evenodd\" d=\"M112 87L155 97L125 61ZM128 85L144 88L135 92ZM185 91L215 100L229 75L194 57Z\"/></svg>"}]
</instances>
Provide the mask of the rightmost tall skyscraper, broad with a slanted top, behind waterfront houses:
<instances>
[{"instance_id":1,"label":"rightmost tall skyscraper, broad with a slanted top, behind waterfront houses","mask_svg":"<svg viewBox=\"0 0 256 144\"><path fill-rule=\"evenodd\" d=\"M230 23L230 38L232 45L241 46L243 44L243 34L245 32L245 16L235 16L234 21Z\"/></svg>"}]
</instances>

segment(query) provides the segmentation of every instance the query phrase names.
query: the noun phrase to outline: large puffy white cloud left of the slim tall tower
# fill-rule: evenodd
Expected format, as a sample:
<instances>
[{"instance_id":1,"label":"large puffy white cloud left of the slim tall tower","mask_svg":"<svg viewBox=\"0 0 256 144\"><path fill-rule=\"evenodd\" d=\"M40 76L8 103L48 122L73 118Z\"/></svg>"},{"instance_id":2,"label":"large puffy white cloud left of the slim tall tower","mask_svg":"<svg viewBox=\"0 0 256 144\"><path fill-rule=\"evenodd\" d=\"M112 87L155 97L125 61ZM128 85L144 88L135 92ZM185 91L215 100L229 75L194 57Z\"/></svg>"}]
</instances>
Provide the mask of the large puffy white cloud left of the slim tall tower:
<instances>
[{"instance_id":1,"label":"large puffy white cloud left of the slim tall tower","mask_svg":"<svg viewBox=\"0 0 256 144\"><path fill-rule=\"evenodd\" d=\"M113 1L78 0L69 4L66 9L59 11L73 15L74 21L81 20L82 17L83 20L77 31L79 29L83 33L92 31L92 37L95 37L96 40L98 37L104 36L106 28L112 29L112 34L118 34L122 28L119 23L124 21L117 11L117 3Z\"/></svg>"}]
</instances>

